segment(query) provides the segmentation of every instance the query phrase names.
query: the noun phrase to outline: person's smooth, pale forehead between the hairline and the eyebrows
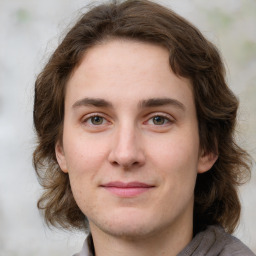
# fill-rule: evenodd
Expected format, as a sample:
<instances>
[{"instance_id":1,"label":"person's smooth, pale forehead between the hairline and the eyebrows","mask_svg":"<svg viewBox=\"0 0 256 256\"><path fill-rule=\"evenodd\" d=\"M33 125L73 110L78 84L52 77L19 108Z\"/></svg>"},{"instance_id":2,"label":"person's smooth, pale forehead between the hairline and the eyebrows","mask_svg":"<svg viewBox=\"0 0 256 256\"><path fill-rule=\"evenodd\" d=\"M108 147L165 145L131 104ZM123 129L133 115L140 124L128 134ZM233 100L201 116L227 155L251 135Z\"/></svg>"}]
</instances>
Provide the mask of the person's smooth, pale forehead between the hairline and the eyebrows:
<instances>
[{"instance_id":1,"label":"person's smooth, pale forehead between the hairline and the eyebrows","mask_svg":"<svg viewBox=\"0 0 256 256\"><path fill-rule=\"evenodd\" d=\"M84 54L68 81L66 101L79 97L141 101L167 94L193 101L190 81L172 72L167 49L144 42L111 40Z\"/></svg>"}]
</instances>

